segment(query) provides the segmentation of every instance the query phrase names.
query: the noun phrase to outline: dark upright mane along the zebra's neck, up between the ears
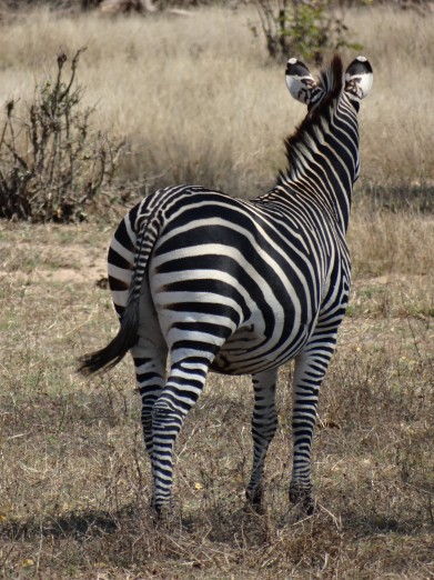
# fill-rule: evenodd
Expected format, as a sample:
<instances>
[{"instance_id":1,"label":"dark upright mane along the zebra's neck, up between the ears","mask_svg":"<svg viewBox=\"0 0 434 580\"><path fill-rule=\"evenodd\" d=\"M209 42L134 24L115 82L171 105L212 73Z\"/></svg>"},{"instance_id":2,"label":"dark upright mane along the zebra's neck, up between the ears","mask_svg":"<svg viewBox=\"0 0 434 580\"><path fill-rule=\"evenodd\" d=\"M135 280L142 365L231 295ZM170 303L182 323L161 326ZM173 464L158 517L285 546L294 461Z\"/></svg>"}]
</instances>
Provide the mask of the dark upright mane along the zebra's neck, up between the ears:
<instances>
[{"instance_id":1,"label":"dark upright mane along the zebra's neck, up between the ears","mask_svg":"<svg viewBox=\"0 0 434 580\"><path fill-rule=\"evenodd\" d=\"M335 54L332 61L320 72L319 87L324 91L321 101L306 114L295 131L286 137L286 159L289 167L286 174L280 173L280 181L287 176L294 176L297 168L303 167L306 149L312 151L313 136L315 129L321 124L323 118L329 117L334 101L340 97L343 87L343 64L341 57Z\"/></svg>"}]
</instances>

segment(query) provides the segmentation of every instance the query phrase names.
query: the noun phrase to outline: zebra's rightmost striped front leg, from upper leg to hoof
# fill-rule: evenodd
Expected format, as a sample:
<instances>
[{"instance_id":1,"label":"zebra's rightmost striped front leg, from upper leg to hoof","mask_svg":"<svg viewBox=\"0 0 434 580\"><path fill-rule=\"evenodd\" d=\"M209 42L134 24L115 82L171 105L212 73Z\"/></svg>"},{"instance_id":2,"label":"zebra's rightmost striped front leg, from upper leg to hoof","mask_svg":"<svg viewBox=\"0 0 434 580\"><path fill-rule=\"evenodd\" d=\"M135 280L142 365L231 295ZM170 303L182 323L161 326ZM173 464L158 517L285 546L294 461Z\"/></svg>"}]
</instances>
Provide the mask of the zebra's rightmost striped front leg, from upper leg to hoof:
<instances>
[{"instance_id":1,"label":"zebra's rightmost striped front leg, from upper leg to hoof","mask_svg":"<svg viewBox=\"0 0 434 580\"><path fill-rule=\"evenodd\" d=\"M314 511L311 482L311 447L316 422L320 387L336 344L337 330L325 333L317 327L303 352L295 359L292 430L294 438L290 500L307 514Z\"/></svg>"}]
</instances>

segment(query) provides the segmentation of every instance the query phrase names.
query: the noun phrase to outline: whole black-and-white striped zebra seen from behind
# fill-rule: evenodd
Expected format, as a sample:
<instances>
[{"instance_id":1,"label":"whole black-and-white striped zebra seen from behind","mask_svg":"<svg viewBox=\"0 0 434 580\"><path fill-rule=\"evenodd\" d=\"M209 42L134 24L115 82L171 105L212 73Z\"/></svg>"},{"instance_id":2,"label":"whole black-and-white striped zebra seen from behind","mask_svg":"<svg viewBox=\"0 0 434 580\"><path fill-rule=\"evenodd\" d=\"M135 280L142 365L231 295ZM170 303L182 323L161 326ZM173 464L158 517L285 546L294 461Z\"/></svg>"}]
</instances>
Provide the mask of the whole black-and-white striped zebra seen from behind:
<instances>
[{"instance_id":1,"label":"whole black-and-white striped zebra seen from behind","mask_svg":"<svg viewBox=\"0 0 434 580\"><path fill-rule=\"evenodd\" d=\"M311 446L320 386L349 301L345 233L360 173L357 112L372 87L364 57L340 56L317 81L287 61L290 93L307 106L285 139L287 168L255 199L199 186L160 189L120 222L108 256L120 329L81 358L91 374L131 351L157 513L173 509L174 442L208 373L251 374L253 466L248 502L262 506L277 428L277 369L294 360L290 501L314 511ZM169 364L166 361L169 360Z\"/></svg>"}]
</instances>

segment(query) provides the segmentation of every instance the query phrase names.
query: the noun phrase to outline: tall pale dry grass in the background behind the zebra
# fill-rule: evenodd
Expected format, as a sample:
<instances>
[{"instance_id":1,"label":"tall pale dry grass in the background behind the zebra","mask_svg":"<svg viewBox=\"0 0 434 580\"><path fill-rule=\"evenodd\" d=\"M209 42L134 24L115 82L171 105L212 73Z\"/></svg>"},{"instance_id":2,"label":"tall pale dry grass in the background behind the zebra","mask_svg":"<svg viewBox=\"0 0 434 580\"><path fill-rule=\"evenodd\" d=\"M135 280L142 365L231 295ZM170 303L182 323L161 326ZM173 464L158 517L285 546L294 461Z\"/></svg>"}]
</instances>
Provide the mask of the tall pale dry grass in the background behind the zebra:
<instances>
[{"instance_id":1,"label":"tall pale dry grass in the background behind the zebra","mask_svg":"<svg viewBox=\"0 0 434 580\"><path fill-rule=\"evenodd\" d=\"M190 17L74 19L37 12L2 28L1 100L29 99L60 50L88 46L80 70L98 123L128 142L122 178L200 182L251 197L284 167L282 140L304 116L282 67L248 22L251 8ZM386 8L349 13L374 89L361 111L362 183L432 182L434 31L428 18ZM355 54L345 51L350 61Z\"/></svg>"}]
</instances>

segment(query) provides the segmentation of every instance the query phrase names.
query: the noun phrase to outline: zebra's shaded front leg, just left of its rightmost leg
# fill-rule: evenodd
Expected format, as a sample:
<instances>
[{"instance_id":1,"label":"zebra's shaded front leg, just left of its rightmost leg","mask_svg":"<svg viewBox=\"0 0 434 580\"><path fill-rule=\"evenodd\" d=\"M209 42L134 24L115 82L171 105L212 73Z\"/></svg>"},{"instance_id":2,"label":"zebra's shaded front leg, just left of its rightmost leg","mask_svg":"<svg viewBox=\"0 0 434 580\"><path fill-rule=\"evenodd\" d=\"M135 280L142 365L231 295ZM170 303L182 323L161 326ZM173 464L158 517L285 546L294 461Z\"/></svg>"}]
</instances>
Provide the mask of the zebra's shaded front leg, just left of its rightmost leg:
<instances>
[{"instance_id":1,"label":"zebra's shaded front leg, just left of its rightmost leg","mask_svg":"<svg viewBox=\"0 0 434 580\"><path fill-rule=\"evenodd\" d=\"M264 470L265 456L277 428L275 410L275 386L277 370L272 369L254 374L254 408L252 414L253 468L246 490L246 498L256 509L261 509L261 479Z\"/></svg>"}]
</instances>

